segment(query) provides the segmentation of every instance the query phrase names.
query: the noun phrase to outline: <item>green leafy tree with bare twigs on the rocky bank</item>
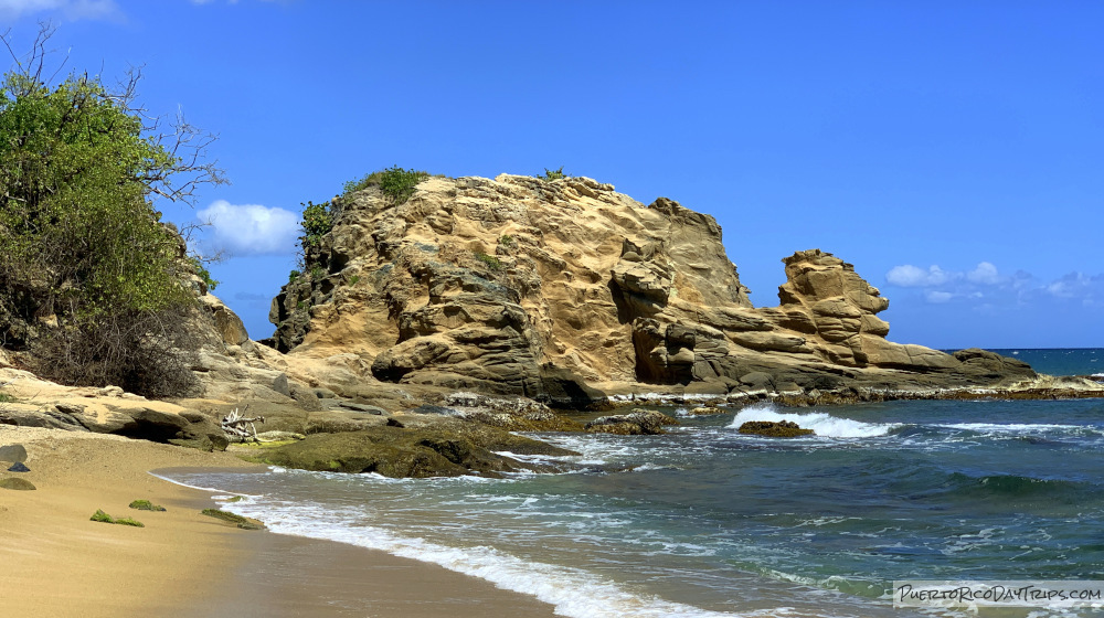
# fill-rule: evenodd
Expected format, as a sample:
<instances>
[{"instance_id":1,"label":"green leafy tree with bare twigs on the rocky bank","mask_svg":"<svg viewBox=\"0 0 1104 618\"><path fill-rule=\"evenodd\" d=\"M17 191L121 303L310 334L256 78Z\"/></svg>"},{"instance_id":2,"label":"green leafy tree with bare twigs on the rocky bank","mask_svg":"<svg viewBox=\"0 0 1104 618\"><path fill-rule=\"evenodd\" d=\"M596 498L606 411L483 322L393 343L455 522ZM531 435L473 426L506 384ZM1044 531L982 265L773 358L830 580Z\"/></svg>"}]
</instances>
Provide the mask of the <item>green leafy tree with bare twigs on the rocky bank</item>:
<instances>
[{"instance_id":1,"label":"green leafy tree with bare twigs on the rocky bank","mask_svg":"<svg viewBox=\"0 0 1104 618\"><path fill-rule=\"evenodd\" d=\"M158 134L134 105L137 73L121 92L87 74L43 81L51 33L0 84L0 344L33 348L64 382L180 392L195 268L150 200L222 182L201 162L211 138L182 121Z\"/></svg>"}]
</instances>

